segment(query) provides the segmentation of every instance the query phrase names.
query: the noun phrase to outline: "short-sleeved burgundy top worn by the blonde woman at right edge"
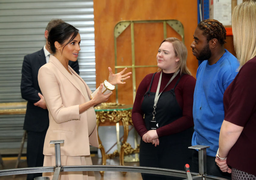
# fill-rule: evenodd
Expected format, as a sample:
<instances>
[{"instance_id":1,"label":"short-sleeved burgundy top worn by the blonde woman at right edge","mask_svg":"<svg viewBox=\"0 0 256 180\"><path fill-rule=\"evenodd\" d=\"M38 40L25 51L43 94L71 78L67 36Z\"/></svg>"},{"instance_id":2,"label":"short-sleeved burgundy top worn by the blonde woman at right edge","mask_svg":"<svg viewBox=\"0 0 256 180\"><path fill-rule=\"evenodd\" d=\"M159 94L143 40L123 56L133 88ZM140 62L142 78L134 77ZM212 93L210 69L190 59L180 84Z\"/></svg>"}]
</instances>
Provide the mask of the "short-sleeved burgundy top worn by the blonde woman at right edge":
<instances>
[{"instance_id":1,"label":"short-sleeved burgundy top worn by the blonde woman at right edge","mask_svg":"<svg viewBox=\"0 0 256 180\"><path fill-rule=\"evenodd\" d=\"M242 126L227 164L256 176L256 57L245 63L223 95L225 120Z\"/></svg>"}]
</instances>

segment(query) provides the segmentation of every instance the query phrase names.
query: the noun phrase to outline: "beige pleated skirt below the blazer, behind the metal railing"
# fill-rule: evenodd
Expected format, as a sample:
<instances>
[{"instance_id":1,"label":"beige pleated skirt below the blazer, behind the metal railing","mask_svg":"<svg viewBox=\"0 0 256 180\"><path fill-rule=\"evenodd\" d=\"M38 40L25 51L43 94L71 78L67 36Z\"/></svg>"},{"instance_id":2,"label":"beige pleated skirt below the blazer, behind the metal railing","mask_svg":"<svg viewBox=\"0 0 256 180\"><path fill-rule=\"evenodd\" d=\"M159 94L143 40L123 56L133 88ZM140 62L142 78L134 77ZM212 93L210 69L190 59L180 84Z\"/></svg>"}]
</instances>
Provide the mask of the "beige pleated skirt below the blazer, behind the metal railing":
<instances>
[{"instance_id":1,"label":"beige pleated skirt below the blazer, behind the metal railing","mask_svg":"<svg viewBox=\"0 0 256 180\"><path fill-rule=\"evenodd\" d=\"M62 166L92 165L91 156L62 156ZM56 166L55 156L45 156L43 166ZM43 176L53 177L53 172L44 172ZM95 180L93 171L60 172L59 180Z\"/></svg>"}]
</instances>

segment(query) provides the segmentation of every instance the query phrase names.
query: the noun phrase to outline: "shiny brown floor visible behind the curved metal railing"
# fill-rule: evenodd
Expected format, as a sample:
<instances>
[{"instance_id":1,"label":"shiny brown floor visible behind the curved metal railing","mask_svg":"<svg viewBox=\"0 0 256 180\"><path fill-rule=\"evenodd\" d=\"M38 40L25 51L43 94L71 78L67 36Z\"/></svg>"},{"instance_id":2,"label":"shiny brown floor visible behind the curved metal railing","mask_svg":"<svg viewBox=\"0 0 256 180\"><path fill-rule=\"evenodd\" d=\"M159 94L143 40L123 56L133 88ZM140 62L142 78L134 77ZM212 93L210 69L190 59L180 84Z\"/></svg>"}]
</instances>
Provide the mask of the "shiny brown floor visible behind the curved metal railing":
<instances>
[{"instance_id":1,"label":"shiny brown floor visible behind the curved metal railing","mask_svg":"<svg viewBox=\"0 0 256 180\"><path fill-rule=\"evenodd\" d=\"M13 169L15 167L17 157L3 157L4 167L0 164L0 169ZM101 158L98 158L97 154L92 154L92 163L94 165L101 165ZM108 159L107 165L119 165L119 157L114 159ZM126 166L139 166L138 162L125 163ZM27 167L26 157L22 157L19 168ZM95 171L96 180L142 180L140 173L127 172L124 176L122 172L105 172L104 176L101 177L98 171ZM0 176L0 180L26 180L27 175L16 175L13 176Z\"/></svg>"}]
</instances>

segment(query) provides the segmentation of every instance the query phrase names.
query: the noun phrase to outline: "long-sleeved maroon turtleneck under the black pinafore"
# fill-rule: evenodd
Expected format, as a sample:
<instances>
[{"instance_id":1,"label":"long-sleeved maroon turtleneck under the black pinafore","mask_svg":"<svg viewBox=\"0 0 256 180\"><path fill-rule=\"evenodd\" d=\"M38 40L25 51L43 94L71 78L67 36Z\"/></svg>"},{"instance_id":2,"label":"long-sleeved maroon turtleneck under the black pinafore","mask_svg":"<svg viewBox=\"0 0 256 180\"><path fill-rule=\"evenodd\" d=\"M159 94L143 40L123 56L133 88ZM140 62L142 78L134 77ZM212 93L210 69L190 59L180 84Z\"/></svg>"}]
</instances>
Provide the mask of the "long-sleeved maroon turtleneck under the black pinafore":
<instances>
[{"instance_id":1,"label":"long-sleeved maroon turtleneck under the black pinafore","mask_svg":"<svg viewBox=\"0 0 256 180\"><path fill-rule=\"evenodd\" d=\"M158 72L155 74L150 92L156 92L160 73L161 72ZM143 119L144 113L141 110L141 104L143 101L144 94L149 89L152 76L153 76L153 73L148 74L142 80L136 92L136 98L133 104L133 111L132 111L133 125L141 137L146 132L148 132ZM164 72L162 73L162 80L161 80L159 93L162 92L165 85L167 84L167 82L170 80L172 76L173 76L173 73L170 73L170 74L167 74ZM179 77L180 77L180 73L173 79L173 81L167 86L167 88L165 88L164 92L170 91L172 88L174 88L176 81L179 79ZM170 124L167 124L165 126L158 128L156 130L158 137L182 132L194 125L192 108L193 108L193 95L194 95L194 89L195 89L195 81L196 81L195 78L188 74L184 74L181 77L180 82L176 86L174 92L176 95L176 100L180 105L180 108L183 110L183 116L180 117L179 119L176 119Z\"/></svg>"}]
</instances>

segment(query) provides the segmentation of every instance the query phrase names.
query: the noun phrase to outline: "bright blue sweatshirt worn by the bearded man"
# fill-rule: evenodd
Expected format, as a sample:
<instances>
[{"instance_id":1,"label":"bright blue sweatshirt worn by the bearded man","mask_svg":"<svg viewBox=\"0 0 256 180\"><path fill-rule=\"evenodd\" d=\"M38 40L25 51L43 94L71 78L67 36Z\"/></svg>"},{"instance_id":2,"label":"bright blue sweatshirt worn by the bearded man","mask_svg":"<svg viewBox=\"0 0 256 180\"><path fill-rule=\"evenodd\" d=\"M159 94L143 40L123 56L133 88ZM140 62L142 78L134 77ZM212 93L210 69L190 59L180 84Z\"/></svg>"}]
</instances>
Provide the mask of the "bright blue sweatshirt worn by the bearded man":
<instances>
[{"instance_id":1,"label":"bright blue sweatshirt worn by the bearded man","mask_svg":"<svg viewBox=\"0 0 256 180\"><path fill-rule=\"evenodd\" d=\"M219 147L220 127L224 120L223 94L239 67L236 57L225 51L213 65L209 65L207 60L203 61L196 73L192 146L210 146L206 152L212 157L215 157Z\"/></svg>"}]
</instances>

